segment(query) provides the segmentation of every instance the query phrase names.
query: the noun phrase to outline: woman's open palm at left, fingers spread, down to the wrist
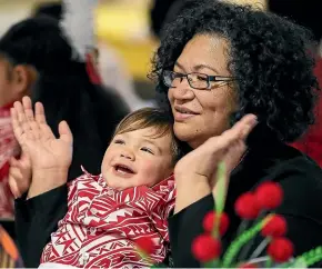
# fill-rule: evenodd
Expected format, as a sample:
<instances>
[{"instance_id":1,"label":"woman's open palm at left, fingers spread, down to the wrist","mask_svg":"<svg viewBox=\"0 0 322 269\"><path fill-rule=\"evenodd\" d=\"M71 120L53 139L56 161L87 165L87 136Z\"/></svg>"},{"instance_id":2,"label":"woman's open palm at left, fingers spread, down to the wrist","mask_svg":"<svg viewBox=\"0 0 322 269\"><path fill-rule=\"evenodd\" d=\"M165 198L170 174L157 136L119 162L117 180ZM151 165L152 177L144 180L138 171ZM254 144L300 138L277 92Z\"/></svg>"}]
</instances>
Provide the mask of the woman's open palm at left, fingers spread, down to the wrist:
<instances>
[{"instance_id":1,"label":"woman's open palm at left, fingers spread, down to the wrist","mask_svg":"<svg viewBox=\"0 0 322 269\"><path fill-rule=\"evenodd\" d=\"M42 103L32 110L31 99L14 102L11 109L14 136L31 160L32 172L68 170L72 160L72 133L66 121L59 124L59 138L56 138L47 124Z\"/></svg>"}]
</instances>

